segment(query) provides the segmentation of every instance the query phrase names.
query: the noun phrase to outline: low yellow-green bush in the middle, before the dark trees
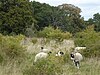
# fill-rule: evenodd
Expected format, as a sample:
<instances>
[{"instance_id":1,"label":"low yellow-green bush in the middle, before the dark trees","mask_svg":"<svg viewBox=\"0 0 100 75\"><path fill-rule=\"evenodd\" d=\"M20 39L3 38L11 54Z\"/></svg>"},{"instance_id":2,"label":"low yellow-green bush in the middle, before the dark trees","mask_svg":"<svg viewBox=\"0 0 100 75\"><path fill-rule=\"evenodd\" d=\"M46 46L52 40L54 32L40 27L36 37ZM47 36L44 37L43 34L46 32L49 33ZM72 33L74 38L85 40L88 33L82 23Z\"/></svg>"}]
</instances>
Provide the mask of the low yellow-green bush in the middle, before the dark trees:
<instances>
[{"instance_id":1,"label":"low yellow-green bush in the middle, before the dark trees","mask_svg":"<svg viewBox=\"0 0 100 75\"><path fill-rule=\"evenodd\" d=\"M45 27L38 33L38 36L50 39L58 39L58 41L62 41L63 39L70 39L72 37L69 32L62 32L60 29L54 29L53 27Z\"/></svg>"}]
</instances>

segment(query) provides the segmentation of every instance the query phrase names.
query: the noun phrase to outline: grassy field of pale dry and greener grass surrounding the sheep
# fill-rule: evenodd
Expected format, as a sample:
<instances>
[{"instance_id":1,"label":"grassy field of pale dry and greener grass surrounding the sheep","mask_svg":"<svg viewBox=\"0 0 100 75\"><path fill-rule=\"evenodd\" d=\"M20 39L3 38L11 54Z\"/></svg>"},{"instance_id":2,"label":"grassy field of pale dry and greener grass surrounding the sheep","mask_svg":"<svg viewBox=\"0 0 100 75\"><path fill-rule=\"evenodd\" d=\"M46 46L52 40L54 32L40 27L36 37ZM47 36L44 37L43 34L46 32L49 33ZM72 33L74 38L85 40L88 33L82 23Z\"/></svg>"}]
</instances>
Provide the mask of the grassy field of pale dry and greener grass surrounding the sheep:
<instances>
[{"instance_id":1,"label":"grassy field of pale dry and greener grass surrounding the sheep","mask_svg":"<svg viewBox=\"0 0 100 75\"><path fill-rule=\"evenodd\" d=\"M33 43L32 43L33 42ZM7 59L0 63L0 75L99 75L100 58L85 58L81 62L80 69L77 69L69 58L69 50L74 47L72 40L63 42L50 41L47 39L30 39L21 42L27 50L24 58ZM43 61L33 63L34 56L39 52L40 47L51 49L53 54ZM58 51L64 51L63 57L55 57Z\"/></svg>"}]
</instances>

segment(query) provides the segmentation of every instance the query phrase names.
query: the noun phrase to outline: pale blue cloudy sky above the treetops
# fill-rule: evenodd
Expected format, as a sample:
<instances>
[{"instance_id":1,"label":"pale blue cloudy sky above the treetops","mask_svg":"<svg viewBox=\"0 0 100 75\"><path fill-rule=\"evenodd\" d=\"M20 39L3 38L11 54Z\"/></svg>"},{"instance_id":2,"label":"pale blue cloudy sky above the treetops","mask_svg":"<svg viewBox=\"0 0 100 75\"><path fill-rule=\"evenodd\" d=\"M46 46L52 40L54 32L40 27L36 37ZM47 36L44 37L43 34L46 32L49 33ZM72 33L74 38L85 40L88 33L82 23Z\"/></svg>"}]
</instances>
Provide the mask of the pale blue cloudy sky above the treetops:
<instances>
[{"instance_id":1,"label":"pale blue cloudy sky above the treetops","mask_svg":"<svg viewBox=\"0 0 100 75\"><path fill-rule=\"evenodd\" d=\"M51 6L58 6L62 4L73 4L81 9L81 15L85 20L93 18L93 15L100 13L100 0L30 0L40 3L47 3Z\"/></svg>"}]
</instances>

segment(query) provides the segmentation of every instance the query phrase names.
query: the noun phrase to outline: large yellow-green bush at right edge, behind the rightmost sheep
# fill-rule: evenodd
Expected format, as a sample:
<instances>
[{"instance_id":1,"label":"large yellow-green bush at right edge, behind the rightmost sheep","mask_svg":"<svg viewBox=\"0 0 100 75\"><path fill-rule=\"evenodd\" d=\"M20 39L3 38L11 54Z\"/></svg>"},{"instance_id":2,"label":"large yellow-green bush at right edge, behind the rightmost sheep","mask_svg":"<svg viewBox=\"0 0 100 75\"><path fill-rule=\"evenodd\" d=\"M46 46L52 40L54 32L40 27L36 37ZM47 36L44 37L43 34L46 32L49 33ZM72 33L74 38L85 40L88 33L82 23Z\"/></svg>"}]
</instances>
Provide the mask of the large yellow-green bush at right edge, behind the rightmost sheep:
<instances>
[{"instance_id":1,"label":"large yellow-green bush at right edge, behind the rightmost sheep","mask_svg":"<svg viewBox=\"0 0 100 75\"><path fill-rule=\"evenodd\" d=\"M75 36L76 46L86 46L83 50L85 56L100 56L100 33L94 31L93 26L89 26L86 30L77 33Z\"/></svg>"}]
</instances>

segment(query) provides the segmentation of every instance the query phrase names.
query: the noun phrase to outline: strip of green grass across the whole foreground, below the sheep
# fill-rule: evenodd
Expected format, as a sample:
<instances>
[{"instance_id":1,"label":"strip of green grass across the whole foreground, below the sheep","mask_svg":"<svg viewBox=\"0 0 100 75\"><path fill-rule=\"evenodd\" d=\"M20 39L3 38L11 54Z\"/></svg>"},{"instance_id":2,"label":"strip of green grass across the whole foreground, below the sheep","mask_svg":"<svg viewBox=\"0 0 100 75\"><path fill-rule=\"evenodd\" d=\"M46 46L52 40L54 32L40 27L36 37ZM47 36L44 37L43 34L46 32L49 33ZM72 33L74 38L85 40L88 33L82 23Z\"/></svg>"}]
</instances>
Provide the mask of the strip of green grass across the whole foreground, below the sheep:
<instances>
[{"instance_id":1,"label":"strip of green grass across the whole foreground, below the sheep","mask_svg":"<svg viewBox=\"0 0 100 75\"><path fill-rule=\"evenodd\" d=\"M73 62L68 59L63 62L62 58L43 60L33 64L34 54L29 55L23 62L17 60L8 61L6 65L0 65L0 75L99 75L100 59L85 58L77 69Z\"/></svg>"}]
</instances>

